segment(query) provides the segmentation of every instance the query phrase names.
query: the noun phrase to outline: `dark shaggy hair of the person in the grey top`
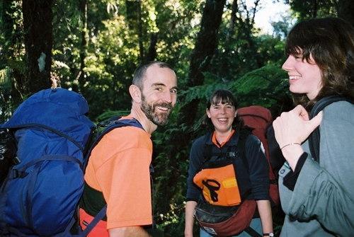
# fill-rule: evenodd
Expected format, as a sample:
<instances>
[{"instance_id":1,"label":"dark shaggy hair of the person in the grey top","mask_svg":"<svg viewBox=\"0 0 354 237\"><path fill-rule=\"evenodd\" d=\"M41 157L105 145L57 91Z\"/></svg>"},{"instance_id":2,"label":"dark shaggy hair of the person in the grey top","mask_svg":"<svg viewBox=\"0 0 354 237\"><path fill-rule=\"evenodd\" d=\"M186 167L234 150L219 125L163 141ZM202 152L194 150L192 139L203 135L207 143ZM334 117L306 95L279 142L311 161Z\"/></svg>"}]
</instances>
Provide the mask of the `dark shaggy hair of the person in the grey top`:
<instances>
[{"instance_id":1,"label":"dark shaggy hair of the person in the grey top","mask_svg":"<svg viewBox=\"0 0 354 237\"><path fill-rule=\"evenodd\" d=\"M285 54L299 54L309 63L310 54L321 70L322 88L310 101L304 94L294 94L295 104L311 110L324 96L340 94L354 98L354 29L341 18L313 18L290 30Z\"/></svg>"}]
</instances>

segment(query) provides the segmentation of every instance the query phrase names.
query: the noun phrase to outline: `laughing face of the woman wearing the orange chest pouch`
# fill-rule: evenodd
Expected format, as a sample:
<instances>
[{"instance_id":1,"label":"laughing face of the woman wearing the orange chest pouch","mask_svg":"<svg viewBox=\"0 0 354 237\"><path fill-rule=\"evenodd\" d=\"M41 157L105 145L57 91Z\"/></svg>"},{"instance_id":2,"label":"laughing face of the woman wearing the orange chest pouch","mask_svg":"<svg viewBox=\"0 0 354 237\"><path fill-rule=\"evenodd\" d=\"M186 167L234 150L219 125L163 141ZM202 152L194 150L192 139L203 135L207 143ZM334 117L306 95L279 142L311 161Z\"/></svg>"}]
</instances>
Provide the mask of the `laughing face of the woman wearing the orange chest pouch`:
<instances>
[{"instance_id":1,"label":"laughing face of the woman wearing the orange chest pouch","mask_svg":"<svg viewBox=\"0 0 354 237\"><path fill-rule=\"evenodd\" d=\"M229 103L222 104L221 101L216 105L211 105L207 109L207 117L212 120L212 124L217 132L231 132L232 122L236 117L234 105Z\"/></svg>"}]
</instances>

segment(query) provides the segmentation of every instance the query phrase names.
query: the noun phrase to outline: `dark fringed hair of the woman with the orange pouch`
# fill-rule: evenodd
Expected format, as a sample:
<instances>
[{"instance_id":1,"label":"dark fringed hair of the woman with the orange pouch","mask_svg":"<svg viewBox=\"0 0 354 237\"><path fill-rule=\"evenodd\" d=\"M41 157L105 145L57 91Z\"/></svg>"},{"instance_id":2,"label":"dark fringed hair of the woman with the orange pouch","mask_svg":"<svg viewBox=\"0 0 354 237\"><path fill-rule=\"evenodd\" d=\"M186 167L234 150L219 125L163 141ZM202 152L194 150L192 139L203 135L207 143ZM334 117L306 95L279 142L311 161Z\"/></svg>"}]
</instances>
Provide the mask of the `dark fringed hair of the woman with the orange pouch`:
<instances>
[{"instance_id":1,"label":"dark fringed hair of the woman with the orange pouch","mask_svg":"<svg viewBox=\"0 0 354 237\"><path fill-rule=\"evenodd\" d=\"M234 106L235 110L237 110L237 108L239 107L239 103L237 103L237 100L232 94L232 92L225 89L220 89L212 93L209 100L207 100L207 109L210 110L212 105L217 105L218 103L222 103L223 105L228 103ZM207 115L205 115L202 124L205 125L207 129L211 131L214 130L212 120L210 120ZM236 127L244 127L244 120L242 120L239 115L236 115L234 122L232 122L232 128L235 129Z\"/></svg>"}]
</instances>

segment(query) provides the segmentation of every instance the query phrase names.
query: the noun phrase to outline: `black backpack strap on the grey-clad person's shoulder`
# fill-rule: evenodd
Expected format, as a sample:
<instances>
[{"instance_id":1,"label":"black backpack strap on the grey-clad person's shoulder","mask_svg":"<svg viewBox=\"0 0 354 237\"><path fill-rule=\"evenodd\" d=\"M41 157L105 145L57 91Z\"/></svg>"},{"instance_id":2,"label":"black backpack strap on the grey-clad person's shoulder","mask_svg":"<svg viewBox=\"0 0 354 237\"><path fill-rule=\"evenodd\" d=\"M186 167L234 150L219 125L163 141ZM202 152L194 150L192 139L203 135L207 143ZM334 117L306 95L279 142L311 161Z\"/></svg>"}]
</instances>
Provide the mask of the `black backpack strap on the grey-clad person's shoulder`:
<instances>
[{"instance_id":1,"label":"black backpack strap on the grey-clad person's shoulder","mask_svg":"<svg viewBox=\"0 0 354 237\"><path fill-rule=\"evenodd\" d=\"M309 114L309 119L311 120L313 117L319 114L321 110L324 110L324 108L327 105L330 105L331 103L345 100L348 101L352 104L354 104L354 99L353 98L348 98L345 96L340 96L340 95L333 95L333 96L326 96L324 98L321 98L315 105L314 108L311 110ZM321 139L321 136L319 134L319 127L316 127L314 129L314 132L310 134L309 136L309 150L311 152L311 156L314 158L315 161L319 162L319 141Z\"/></svg>"}]
</instances>

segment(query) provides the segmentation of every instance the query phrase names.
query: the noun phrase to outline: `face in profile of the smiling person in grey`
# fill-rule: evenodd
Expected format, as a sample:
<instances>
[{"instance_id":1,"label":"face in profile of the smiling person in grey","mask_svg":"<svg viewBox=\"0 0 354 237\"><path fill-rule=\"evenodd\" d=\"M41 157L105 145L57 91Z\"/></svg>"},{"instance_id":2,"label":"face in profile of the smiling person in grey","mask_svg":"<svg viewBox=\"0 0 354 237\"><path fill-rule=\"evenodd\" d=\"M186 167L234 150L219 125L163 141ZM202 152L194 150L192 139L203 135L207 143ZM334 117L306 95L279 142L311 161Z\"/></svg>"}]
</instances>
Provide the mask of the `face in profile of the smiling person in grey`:
<instances>
[{"instance_id":1,"label":"face in profile of the smiling person in grey","mask_svg":"<svg viewBox=\"0 0 354 237\"><path fill-rule=\"evenodd\" d=\"M321 69L310 55L310 62L302 60L302 52L290 54L282 64L282 69L289 74L290 91L306 94L309 100L318 95L322 87Z\"/></svg>"}]
</instances>

